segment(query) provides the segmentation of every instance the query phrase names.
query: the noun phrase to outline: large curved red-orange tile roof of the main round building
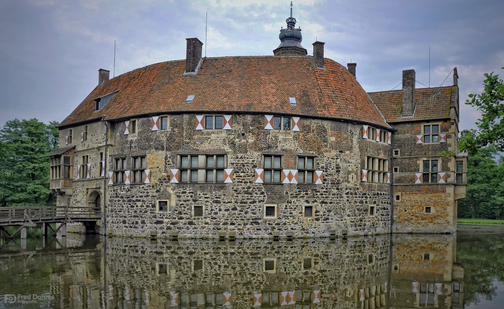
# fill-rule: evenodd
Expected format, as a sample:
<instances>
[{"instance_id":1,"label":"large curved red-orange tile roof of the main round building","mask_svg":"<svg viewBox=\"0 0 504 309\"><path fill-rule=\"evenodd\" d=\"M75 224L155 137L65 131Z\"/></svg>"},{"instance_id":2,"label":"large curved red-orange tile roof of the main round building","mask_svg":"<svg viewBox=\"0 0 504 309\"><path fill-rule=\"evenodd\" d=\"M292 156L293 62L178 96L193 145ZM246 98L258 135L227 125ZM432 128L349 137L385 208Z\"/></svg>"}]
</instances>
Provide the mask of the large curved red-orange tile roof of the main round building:
<instances>
[{"instance_id":1,"label":"large curved red-orange tile roof of the main round building","mask_svg":"<svg viewBox=\"0 0 504 309\"><path fill-rule=\"evenodd\" d=\"M96 87L60 126L102 117L222 111L329 117L390 128L345 67L327 58L326 71L314 67L309 56L215 57L205 58L196 76L183 76L185 60L158 63ZM95 111L94 99L116 90ZM195 95L192 102L185 101L188 95Z\"/></svg>"}]
</instances>

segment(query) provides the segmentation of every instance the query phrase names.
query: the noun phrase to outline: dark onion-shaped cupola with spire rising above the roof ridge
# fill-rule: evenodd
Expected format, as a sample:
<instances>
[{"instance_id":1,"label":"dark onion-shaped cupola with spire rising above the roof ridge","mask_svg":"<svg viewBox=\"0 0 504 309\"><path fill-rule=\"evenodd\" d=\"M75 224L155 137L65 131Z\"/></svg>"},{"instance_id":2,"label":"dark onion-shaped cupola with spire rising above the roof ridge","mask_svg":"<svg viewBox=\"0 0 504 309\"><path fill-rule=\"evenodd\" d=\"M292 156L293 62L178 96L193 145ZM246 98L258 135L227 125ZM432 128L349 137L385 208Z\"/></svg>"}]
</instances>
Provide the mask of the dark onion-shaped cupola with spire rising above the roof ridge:
<instances>
[{"instance_id":1,"label":"dark onion-shaped cupola with spire rising above the roof ridge","mask_svg":"<svg viewBox=\"0 0 504 309\"><path fill-rule=\"evenodd\" d=\"M290 17L285 20L287 22L286 29L280 29L278 38L280 45L273 50L275 56L281 55L306 55L306 49L301 46L303 37L301 35L301 28L295 28L296 19L292 17L292 2L290 3Z\"/></svg>"}]
</instances>

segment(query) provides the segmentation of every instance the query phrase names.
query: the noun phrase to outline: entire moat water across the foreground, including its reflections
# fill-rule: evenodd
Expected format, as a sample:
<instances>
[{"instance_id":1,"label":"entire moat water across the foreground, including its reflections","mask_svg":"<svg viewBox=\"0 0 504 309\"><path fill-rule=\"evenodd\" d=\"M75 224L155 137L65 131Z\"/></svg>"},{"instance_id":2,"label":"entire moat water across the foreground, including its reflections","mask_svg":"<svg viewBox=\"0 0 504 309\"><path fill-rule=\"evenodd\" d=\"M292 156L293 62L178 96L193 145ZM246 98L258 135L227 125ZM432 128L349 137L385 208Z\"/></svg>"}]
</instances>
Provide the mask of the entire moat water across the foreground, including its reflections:
<instances>
[{"instance_id":1,"label":"entire moat water across the foreground, including its reflections","mask_svg":"<svg viewBox=\"0 0 504 309\"><path fill-rule=\"evenodd\" d=\"M0 308L504 307L504 227L292 241L1 241Z\"/></svg>"}]
</instances>

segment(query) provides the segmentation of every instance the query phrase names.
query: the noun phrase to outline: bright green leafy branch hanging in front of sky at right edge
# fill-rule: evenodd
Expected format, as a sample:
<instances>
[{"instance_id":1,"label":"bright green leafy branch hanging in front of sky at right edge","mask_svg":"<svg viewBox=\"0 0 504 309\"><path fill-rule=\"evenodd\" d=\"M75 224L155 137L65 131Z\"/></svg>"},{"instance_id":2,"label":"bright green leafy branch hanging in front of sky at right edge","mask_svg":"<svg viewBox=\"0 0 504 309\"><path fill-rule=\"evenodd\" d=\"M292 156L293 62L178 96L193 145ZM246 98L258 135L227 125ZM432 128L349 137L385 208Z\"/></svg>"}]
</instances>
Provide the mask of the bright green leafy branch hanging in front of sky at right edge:
<instances>
[{"instance_id":1,"label":"bright green leafy branch hanging in front of sky at right edge","mask_svg":"<svg viewBox=\"0 0 504 309\"><path fill-rule=\"evenodd\" d=\"M493 72L484 75L483 92L469 94L466 100L467 105L481 112L481 118L476 121L478 130L470 130L470 138L461 143L460 148L475 151L478 147L494 144L498 151L504 151L504 81Z\"/></svg>"}]
</instances>

